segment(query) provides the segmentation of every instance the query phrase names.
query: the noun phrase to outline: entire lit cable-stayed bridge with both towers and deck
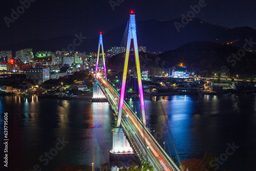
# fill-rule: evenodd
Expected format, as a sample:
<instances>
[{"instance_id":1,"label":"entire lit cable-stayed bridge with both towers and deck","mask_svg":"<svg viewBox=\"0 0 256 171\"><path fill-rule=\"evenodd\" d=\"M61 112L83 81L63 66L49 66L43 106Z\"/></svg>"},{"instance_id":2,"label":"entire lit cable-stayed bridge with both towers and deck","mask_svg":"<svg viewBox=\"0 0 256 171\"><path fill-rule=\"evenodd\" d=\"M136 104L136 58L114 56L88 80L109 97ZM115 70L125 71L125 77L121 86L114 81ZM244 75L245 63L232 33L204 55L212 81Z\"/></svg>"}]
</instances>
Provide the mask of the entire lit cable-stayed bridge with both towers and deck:
<instances>
[{"instance_id":1,"label":"entire lit cable-stayed bridge with both towers and deck","mask_svg":"<svg viewBox=\"0 0 256 171\"><path fill-rule=\"evenodd\" d=\"M113 154L125 154L135 153L138 158L143 161L147 160L151 163L154 170L175 170L179 171L180 168L176 163L169 157L164 151L161 145L156 141L154 136L148 131L146 127L146 117L144 109L144 98L141 81L140 61L138 53L138 42L137 42L137 31L135 14L131 12L130 19L126 27L127 36L126 50L124 55L124 64L122 71L122 81L120 94L114 87L111 86L110 82L106 79L106 66L104 61L104 51L102 34L100 33L97 65L95 72L95 84L101 88L106 99L108 99L111 108L117 115L116 126L113 129ZM104 65L104 73L98 73L98 61L99 51L102 48L102 57ZM134 59L136 62L136 78L138 82L138 92L140 100L140 113L141 120L137 117L137 114L131 110L130 106L124 101L125 89L126 89L126 77L127 68L129 65L129 57L131 48L134 50Z\"/></svg>"}]
</instances>

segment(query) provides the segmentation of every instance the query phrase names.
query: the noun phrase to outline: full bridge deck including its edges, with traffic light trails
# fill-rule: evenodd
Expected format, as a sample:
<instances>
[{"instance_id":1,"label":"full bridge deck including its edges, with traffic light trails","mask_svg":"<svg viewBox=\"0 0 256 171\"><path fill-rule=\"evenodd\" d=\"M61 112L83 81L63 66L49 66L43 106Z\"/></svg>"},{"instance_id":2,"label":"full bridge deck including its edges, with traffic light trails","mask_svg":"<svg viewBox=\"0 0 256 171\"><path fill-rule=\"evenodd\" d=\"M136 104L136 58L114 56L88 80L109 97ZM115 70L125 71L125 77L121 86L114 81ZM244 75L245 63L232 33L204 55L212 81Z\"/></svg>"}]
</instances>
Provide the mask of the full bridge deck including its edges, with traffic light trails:
<instances>
[{"instance_id":1,"label":"full bridge deck including its edges, with traffic light trails","mask_svg":"<svg viewBox=\"0 0 256 171\"><path fill-rule=\"evenodd\" d=\"M108 98L112 109L117 113L119 104L119 93L101 76L97 76L97 78L99 86L105 92L105 96L106 98ZM121 124L124 132L127 131L130 136L133 136L130 141L135 141L137 146L140 148L140 151L136 151L138 156L145 156L147 161L150 161L150 163L156 170L180 171L180 168L165 153L163 148L158 144L155 138L139 120L137 115L125 102L123 105ZM127 133L126 136L130 138Z\"/></svg>"}]
</instances>

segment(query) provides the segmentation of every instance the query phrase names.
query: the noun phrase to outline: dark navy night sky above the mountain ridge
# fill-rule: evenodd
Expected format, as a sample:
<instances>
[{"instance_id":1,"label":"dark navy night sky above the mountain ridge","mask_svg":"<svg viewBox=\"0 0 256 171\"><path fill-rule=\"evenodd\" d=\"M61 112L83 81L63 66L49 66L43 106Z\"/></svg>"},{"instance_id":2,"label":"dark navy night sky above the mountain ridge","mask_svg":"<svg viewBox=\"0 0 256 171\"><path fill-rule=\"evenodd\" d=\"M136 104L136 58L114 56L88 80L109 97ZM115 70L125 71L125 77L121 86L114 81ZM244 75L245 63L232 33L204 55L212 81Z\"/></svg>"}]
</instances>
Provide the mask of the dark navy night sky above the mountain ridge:
<instances>
[{"instance_id":1,"label":"dark navy night sky above the mountain ridge","mask_svg":"<svg viewBox=\"0 0 256 171\"><path fill-rule=\"evenodd\" d=\"M21 4L19 1L2 1L0 46L29 39L47 39L81 32L83 36L91 38L97 36L99 31L108 32L126 24L131 9L136 12L137 20L164 21L180 18L182 13L186 14L191 10L190 5L198 5L198 0L114 0L117 1L122 3L115 6L113 11L109 0L36 0L20 14L19 18L15 19L14 23L10 23L9 28L4 17L11 18L11 9L17 11L17 7ZM255 1L206 0L205 3L206 6L196 14L197 18L228 28L249 26L256 29Z\"/></svg>"}]
</instances>

